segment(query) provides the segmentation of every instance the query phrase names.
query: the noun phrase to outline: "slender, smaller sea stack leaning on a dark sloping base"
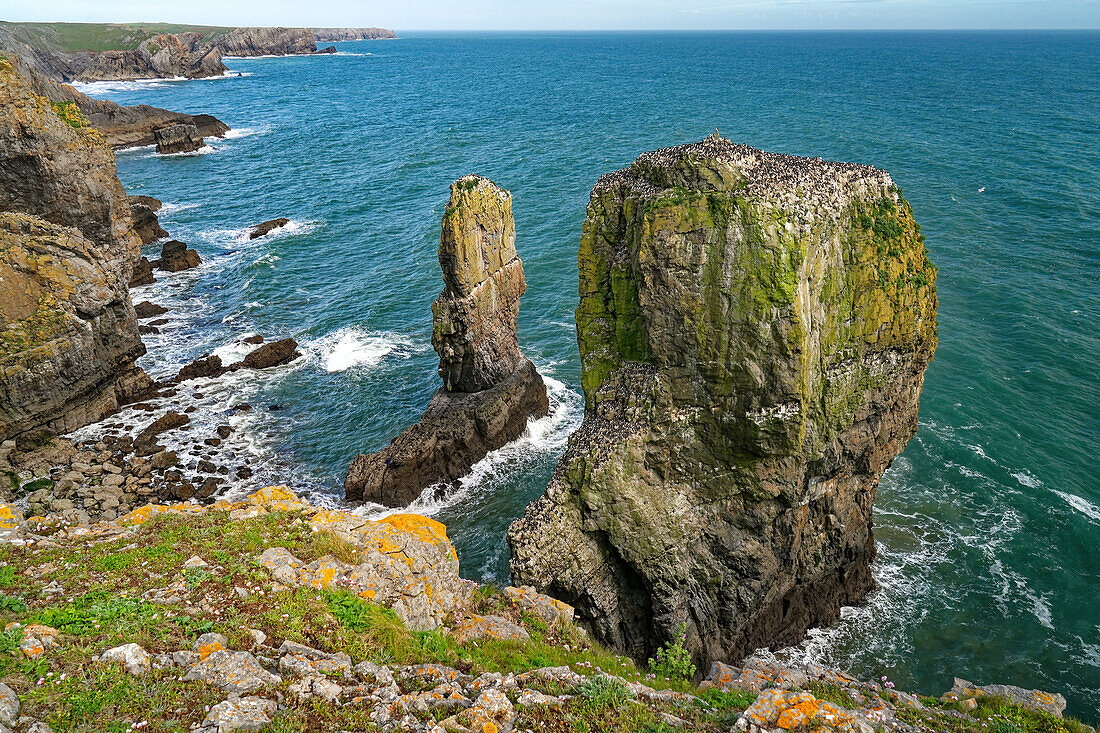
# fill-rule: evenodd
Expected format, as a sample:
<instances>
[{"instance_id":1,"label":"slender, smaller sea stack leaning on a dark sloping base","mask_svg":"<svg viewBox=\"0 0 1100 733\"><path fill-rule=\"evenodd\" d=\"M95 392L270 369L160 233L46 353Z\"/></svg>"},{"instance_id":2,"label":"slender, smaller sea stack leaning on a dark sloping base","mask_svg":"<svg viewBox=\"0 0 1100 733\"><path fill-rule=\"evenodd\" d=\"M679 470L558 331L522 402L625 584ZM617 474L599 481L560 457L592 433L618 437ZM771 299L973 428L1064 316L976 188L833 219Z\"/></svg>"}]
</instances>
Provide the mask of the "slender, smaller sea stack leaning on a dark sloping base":
<instances>
[{"instance_id":1,"label":"slender, smaller sea stack leaning on a dark sloping base","mask_svg":"<svg viewBox=\"0 0 1100 733\"><path fill-rule=\"evenodd\" d=\"M431 342L443 386L419 423L383 450L355 457L344 481L349 500L405 506L427 486L463 477L549 409L546 384L516 338L527 282L512 194L481 176L454 182L439 264L444 287L431 306Z\"/></svg>"}]
</instances>

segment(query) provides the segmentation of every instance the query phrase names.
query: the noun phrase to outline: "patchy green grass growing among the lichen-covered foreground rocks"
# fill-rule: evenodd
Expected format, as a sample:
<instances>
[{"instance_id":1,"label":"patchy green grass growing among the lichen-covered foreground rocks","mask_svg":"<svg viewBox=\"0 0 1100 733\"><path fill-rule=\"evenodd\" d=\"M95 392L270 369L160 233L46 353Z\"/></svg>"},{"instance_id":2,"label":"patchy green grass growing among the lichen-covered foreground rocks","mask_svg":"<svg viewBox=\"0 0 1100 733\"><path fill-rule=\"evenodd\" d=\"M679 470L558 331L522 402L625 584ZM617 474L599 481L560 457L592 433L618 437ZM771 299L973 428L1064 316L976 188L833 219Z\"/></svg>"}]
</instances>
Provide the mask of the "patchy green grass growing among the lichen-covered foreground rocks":
<instances>
[{"instance_id":1,"label":"patchy green grass growing among the lichen-covered foreground rocks","mask_svg":"<svg viewBox=\"0 0 1100 733\"><path fill-rule=\"evenodd\" d=\"M224 634L231 648L249 648L249 630L263 631L274 645L298 642L324 652L343 652L354 663L437 663L465 674L522 672L568 666L585 676L597 671L640 681L657 689L690 692L697 700L650 702L632 698L608 677L592 677L560 710L520 709L517 730L552 733L623 731L669 733L667 715L686 722L682 730L725 733L752 703L750 692L700 690L691 681L653 679L630 660L593 644L572 624L548 625L521 612L501 590L477 590L473 610L507 616L530 634L529 641L481 639L458 644L441 631L415 632L389 609L344 590L276 589L271 575L255 564L267 547L282 546L308 562L323 555L348 560L358 550L329 533L314 533L300 515L273 514L231 522L224 512L158 517L136 533L103 540L55 537L56 546L0 546L0 627L12 621L58 630L56 646L38 660L21 658L21 628L0 633L0 680L19 694L25 714L57 731L130 731L147 721L150 731L188 731L207 705L224 694L179 681L179 670L152 670L136 678L120 666L89 658L119 644L136 642L151 654L190 648L207 632ZM205 568L185 570L201 557ZM29 571L29 572L28 572ZM63 592L42 597L57 582ZM148 592L172 589L179 603L164 605ZM241 589L243 593L234 589ZM145 595L146 598L142 598ZM153 597L155 598L155 597ZM41 680L41 681L40 681ZM267 697L283 694L286 708L274 718L271 733L292 731L373 731L370 705L296 702L287 696L293 680ZM426 685L403 682L403 691ZM546 694L570 692L560 683L534 686ZM843 688L810 683L815 697L851 707ZM928 700L932 704L934 699ZM921 731L937 733L1086 733L1071 720L1033 713L1008 701L985 698L972 714L945 703L927 711L899 710L899 718ZM674 722L674 721L673 721ZM985 723L985 725L983 725Z\"/></svg>"}]
</instances>

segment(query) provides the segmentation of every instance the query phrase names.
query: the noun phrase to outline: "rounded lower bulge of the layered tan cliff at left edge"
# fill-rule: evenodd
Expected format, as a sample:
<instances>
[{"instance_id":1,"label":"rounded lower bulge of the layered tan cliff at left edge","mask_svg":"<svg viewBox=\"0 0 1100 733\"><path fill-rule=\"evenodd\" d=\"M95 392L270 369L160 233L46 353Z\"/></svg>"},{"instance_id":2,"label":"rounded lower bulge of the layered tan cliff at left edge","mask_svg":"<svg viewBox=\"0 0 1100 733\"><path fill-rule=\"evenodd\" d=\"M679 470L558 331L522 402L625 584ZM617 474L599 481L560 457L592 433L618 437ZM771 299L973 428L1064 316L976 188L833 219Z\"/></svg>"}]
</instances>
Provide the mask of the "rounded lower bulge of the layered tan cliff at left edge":
<instances>
[{"instance_id":1,"label":"rounded lower bulge of the layered tan cliff at left edge","mask_svg":"<svg viewBox=\"0 0 1100 733\"><path fill-rule=\"evenodd\" d=\"M100 248L78 229L0 214L0 436L66 433L127 401L122 378L140 372L145 348Z\"/></svg>"}]
</instances>

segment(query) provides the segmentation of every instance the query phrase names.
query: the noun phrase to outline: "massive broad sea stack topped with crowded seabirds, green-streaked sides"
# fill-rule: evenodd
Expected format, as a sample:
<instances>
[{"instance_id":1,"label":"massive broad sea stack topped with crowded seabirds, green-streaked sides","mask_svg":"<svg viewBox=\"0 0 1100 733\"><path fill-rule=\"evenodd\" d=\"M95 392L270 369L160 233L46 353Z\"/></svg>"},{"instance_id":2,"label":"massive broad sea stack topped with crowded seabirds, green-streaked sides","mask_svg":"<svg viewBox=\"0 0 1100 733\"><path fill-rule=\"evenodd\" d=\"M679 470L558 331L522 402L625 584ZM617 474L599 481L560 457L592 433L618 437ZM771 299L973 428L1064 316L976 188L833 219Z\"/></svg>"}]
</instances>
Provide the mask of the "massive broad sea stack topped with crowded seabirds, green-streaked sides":
<instances>
[{"instance_id":1,"label":"massive broad sea stack topped with crowded seabirds, green-streaked sides","mask_svg":"<svg viewBox=\"0 0 1100 733\"><path fill-rule=\"evenodd\" d=\"M584 420L508 533L516 584L646 659L798 642L873 581L879 479L916 429L936 271L889 174L706 140L596 183Z\"/></svg>"}]
</instances>

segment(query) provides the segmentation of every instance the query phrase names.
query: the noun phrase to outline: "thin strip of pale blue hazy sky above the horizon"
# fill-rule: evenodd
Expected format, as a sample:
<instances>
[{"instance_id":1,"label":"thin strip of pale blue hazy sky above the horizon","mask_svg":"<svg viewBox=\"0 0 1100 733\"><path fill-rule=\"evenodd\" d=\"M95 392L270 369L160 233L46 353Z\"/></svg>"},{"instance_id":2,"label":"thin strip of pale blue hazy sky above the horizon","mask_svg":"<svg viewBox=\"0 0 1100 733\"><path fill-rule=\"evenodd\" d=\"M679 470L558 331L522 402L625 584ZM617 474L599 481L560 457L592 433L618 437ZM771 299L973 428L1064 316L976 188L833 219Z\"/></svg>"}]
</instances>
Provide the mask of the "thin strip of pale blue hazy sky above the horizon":
<instances>
[{"instance_id":1,"label":"thin strip of pale blue hazy sky above the horizon","mask_svg":"<svg viewBox=\"0 0 1100 733\"><path fill-rule=\"evenodd\" d=\"M396 31L1097 29L1100 0L0 0L0 20Z\"/></svg>"}]
</instances>

